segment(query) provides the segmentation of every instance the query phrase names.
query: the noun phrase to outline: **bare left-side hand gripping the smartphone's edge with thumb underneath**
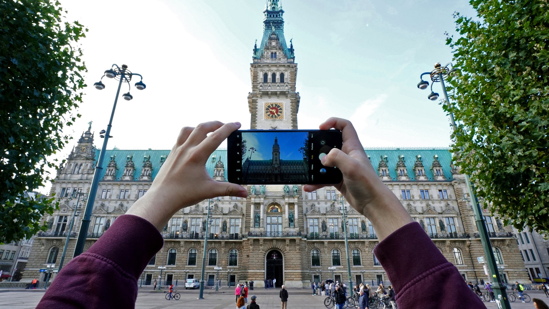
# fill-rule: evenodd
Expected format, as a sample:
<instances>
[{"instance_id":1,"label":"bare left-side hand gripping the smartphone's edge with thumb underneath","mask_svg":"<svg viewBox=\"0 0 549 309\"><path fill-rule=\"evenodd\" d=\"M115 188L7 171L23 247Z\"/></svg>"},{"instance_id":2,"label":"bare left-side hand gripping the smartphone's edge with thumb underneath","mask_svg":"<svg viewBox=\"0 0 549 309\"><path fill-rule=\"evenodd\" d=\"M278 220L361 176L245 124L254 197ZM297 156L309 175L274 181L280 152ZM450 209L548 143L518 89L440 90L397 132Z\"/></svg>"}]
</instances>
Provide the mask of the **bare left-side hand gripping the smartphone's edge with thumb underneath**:
<instances>
[{"instance_id":1,"label":"bare left-side hand gripping the smartphone's edge with thumb underneath","mask_svg":"<svg viewBox=\"0 0 549 309\"><path fill-rule=\"evenodd\" d=\"M240 123L207 122L181 129L147 194L126 213L147 219L161 230L181 208L217 196L247 197L243 186L215 181L205 167L210 154L239 128Z\"/></svg>"}]
</instances>

